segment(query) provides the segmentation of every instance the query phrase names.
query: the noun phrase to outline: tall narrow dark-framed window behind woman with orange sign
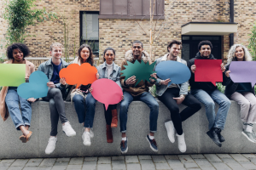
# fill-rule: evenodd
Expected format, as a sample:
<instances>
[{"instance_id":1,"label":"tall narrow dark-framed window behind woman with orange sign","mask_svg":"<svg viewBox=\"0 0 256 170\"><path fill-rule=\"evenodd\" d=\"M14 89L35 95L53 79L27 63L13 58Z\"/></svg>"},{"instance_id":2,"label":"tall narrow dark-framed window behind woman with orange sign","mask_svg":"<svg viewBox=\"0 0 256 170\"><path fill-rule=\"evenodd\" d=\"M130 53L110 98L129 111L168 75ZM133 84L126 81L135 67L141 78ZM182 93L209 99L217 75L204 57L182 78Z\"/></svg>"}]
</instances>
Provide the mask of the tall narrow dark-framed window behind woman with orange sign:
<instances>
[{"instance_id":1,"label":"tall narrow dark-framed window behind woman with orange sign","mask_svg":"<svg viewBox=\"0 0 256 170\"><path fill-rule=\"evenodd\" d=\"M96 57L99 56L99 13L81 12L81 45L87 43Z\"/></svg>"}]
</instances>

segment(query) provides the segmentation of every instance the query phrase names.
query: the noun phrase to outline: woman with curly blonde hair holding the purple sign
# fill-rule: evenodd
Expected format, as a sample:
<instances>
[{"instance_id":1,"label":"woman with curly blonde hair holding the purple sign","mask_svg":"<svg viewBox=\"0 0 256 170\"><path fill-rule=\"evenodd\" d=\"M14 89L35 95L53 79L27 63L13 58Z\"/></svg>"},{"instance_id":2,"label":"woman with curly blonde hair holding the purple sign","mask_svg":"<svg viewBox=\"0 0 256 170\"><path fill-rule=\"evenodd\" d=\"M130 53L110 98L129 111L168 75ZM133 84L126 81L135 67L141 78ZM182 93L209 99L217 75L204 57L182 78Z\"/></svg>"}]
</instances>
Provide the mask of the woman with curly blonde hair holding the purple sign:
<instances>
[{"instance_id":1,"label":"woman with curly blonde hair holding the purple sign","mask_svg":"<svg viewBox=\"0 0 256 170\"><path fill-rule=\"evenodd\" d=\"M228 62L223 85L226 86L225 94L229 99L235 100L241 105L242 134L250 142L256 143L256 134L253 132L253 124L256 122L256 97L251 82L233 82L230 79L231 61L251 61L252 57L247 48L241 44L235 44L230 48Z\"/></svg>"}]
</instances>

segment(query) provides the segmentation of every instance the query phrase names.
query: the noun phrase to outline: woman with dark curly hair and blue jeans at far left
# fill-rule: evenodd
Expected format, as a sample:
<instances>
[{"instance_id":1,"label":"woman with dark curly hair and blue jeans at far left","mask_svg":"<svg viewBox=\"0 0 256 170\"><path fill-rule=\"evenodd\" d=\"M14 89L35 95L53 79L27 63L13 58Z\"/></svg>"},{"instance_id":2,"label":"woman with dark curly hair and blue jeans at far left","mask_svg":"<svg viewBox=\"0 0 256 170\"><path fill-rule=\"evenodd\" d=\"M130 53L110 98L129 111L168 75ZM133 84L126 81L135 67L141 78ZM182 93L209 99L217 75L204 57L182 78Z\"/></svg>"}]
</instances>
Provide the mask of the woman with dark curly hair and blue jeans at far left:
<instances>
[{"instance_id":1,"label":"woman with dark curly hair and blue jeans at far left","mask_svg":"<svg viewBox=\"0 0 256 170\"><path fill-rule=\"evenodd\" d=\"M28 82L30 75L35 71L35 66L25 59L26 56L30 54L29 48L27 48L25 44L14 43L7 48L6 54L9 60L4 62L4 64L26 65L26 76L24 78L26 82ZM0 114L3 121L6 121L10 115L16 129L22 132L20 140L23 143L26 143L32 136L32 132L29 131L28 128L30 127L32 116L31 103L34 101L36 101L36 99L21 98L19 94L17 94L17 87L3 87L0 92Z\"/></svg>"}]
</instances>

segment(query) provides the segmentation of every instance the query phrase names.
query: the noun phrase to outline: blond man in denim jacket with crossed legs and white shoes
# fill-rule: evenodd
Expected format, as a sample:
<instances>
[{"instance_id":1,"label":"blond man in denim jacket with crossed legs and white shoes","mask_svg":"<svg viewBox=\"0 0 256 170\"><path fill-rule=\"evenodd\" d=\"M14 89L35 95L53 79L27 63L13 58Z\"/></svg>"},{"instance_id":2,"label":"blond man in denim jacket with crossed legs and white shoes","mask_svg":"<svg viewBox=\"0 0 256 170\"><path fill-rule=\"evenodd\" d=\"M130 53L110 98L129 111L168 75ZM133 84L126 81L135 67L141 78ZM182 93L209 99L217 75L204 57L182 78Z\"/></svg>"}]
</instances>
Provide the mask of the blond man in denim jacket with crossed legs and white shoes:
<instances>
[{"instance_id":1,"label":"blond man in denim jacket with crossed legs and white shoes","mask_svg":"<svg viewBox=\"0 0 256 170\"><path fill-rule=\"evenodd\" d=\"M47 97L43 99L49 101L49 111L50 111L50 122L51 122L51 132L47 147L45 149L45 154L51 154L55 150L55 144L57 142L57 128L59 118L62 123L62 131L66 133L68 137L76 135L76 132L71 127L70 122L68 122L65 105L63 101L63 92L66 88L65 78L60 78L59 72L62 68L67 67L67 63L61 59L63 46L59 42L54 42L49 47L49 54L51 59L45 61L38 67L38 71L43 71L49 79L47 82L48 94Z\"/></svg>"}]
</instances>

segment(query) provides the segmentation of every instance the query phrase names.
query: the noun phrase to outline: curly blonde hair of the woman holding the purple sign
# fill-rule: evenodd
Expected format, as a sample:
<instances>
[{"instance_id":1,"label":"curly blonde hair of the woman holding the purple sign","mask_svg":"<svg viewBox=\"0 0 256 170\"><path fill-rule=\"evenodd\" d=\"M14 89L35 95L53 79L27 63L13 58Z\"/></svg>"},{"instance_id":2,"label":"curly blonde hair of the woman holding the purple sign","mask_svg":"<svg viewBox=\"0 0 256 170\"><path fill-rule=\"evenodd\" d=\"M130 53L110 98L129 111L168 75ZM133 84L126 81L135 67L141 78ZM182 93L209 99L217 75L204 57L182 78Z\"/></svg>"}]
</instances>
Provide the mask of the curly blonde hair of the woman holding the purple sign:
<instances>
[{"instance_id":1,"label":"curly blonde hair of the woman holding the purple sign","mask_svg":"<svg viewBox=\"0 0 256 170\"><path fill-rule=\"evenodd\" d=\"M227 65L230 65L231 61L236 61L236 48L241 47L243 49L243 53L244 53L244 60L246 61L251 61L252 60L252 56L250 54L250 52L248 51L248 49L241 45L241 44L234 44L229 51L228 54L228 61L227 61Z\"/></svg>"}]
</instances>

